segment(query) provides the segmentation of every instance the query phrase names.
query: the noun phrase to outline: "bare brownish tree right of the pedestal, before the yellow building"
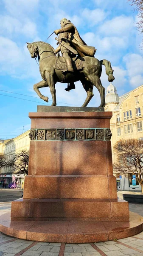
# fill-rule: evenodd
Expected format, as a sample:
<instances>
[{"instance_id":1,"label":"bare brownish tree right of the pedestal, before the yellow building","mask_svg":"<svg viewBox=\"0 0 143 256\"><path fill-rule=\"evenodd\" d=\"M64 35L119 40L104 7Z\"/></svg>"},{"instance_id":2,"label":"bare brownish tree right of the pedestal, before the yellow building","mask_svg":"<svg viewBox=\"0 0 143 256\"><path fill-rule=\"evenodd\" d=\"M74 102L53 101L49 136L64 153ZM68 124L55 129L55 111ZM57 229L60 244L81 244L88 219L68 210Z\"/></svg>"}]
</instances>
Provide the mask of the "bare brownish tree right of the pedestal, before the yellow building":
<instances>
[{"instance_id":1,"label":"bare brownish tree right of the pedestal, before the yellow building","mask_svg":"<svg viewBox=\"0 0 143 256\"><path fill-rule=\"evenodd\" d=\"M136 175L143 192L143 141L137 139L119 140L114 145L117 162L114 163L115 173Z\"/></svg>"}]
</instances>

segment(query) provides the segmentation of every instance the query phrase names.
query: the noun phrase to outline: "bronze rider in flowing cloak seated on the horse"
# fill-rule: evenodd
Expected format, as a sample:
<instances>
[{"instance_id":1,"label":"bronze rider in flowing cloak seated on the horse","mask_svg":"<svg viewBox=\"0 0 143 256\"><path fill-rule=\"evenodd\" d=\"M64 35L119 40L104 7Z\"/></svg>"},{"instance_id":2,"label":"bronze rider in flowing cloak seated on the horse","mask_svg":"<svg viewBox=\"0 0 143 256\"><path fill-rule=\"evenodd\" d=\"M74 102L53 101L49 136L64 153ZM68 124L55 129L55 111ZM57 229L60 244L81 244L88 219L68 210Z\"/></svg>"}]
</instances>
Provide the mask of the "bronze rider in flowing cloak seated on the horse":
<instances>
[{"instance_id":1,"label":"bronze rider in flowing cloak seated on the horse","mask_svg":"<svg viewBox=\"0 0 143 256\"><path fill-rule=\"evenodd\" d=\"M55 34L59 35L59 47L56 48L56 52L59 52L61 50L62 56L67 64L67 70L69 72L73 72L73 64L72 64L72 53L74 50L76 50L79 57L84 56L94 56L96 49L95 47L87 46L87 44L81 39L78 30L73 25L73 23L70 22L70 20L67 20L66 18L63 18L60 21L61 29L54 30ZM65 45L62 44L62 42L66 42ZM72 46L73 51L67 49L65 46L68 45ZM69 91L71 89L75 89L74 83L70 83L70 86L66 88L65 90Z\"/></svg>"}]
</instances>

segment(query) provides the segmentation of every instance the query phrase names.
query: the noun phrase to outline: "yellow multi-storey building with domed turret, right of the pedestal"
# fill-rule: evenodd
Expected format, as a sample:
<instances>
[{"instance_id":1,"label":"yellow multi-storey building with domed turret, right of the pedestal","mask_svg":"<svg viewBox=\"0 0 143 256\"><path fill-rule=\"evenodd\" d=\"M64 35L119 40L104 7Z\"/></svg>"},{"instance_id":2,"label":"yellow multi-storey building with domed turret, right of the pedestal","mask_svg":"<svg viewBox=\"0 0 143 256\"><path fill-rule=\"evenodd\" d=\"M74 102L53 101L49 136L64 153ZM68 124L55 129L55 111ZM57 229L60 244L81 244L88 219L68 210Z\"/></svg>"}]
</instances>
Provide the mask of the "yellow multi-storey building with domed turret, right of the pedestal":
<instances>
[{"instance_id":1,"label":"yellow multi-storey building with domed turret, right of the pedestal","mask_svg":"<svg viewBox=\"0 0 143 256\"><path fill-rule=\"evenodd\" d=\"M116 162L116 155L113 151L114 144L120 140L130 138L143 140L143 85L136 89L118 96L116 87L110 83L107 87L105 97L105 111L112 111L110 129L112 131L112 160ZM128 177L117 176L117 186L120 190L141 191L140 184L132 185L132 174Z\"/></svg>"}]
</instances>

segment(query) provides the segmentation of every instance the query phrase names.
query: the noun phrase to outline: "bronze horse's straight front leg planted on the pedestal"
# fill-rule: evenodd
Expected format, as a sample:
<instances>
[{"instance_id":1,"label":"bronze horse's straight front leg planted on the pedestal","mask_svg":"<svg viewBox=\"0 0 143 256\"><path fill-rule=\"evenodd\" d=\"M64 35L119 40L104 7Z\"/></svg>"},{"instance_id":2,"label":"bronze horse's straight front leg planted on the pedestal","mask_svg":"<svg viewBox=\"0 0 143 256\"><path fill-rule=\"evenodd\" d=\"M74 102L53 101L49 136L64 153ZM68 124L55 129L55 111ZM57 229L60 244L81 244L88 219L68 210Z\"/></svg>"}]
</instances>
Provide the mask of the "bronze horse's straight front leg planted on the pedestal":
<instances>
[{"instance_id":1,"label":"bronze horse's straight front leg planted on the pedestal","mask_svg":"<svg viewBox=\"0 0 143 256\"><path fill-rule=\"evenodd\" d=\"M48 71L45 72L45 78L46 81L50 87L50 93L52 95L53 103L51 106L56 106L56 89L55 89L55 83L53 81L53 75L51 75Z\"/></svg>"}]
</instances>

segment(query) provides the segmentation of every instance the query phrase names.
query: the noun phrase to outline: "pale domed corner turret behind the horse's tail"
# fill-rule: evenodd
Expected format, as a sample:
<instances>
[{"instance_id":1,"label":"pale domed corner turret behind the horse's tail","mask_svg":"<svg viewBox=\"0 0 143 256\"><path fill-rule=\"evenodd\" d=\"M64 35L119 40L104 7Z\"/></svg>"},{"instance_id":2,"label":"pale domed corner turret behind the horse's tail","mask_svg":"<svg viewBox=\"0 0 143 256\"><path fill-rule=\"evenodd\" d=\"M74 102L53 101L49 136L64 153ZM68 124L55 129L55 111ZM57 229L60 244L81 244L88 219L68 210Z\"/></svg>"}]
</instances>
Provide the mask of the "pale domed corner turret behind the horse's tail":
<instances>
[{"instance_id":1,"label":"pale domed corner turret behind the horse's tail","mask_svg":"<svg viewBox=\"0 0 143 256\"><path fill-rule=\"evenodd\" d=\"M105 111L114 111L115 107L119 103L119 96L116 87L110 83L107 87L107 94L105 96Z\"/></svg>"}]
</instances>

